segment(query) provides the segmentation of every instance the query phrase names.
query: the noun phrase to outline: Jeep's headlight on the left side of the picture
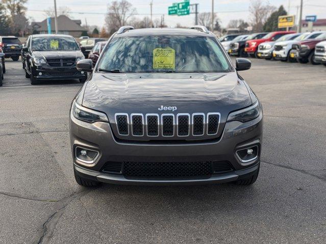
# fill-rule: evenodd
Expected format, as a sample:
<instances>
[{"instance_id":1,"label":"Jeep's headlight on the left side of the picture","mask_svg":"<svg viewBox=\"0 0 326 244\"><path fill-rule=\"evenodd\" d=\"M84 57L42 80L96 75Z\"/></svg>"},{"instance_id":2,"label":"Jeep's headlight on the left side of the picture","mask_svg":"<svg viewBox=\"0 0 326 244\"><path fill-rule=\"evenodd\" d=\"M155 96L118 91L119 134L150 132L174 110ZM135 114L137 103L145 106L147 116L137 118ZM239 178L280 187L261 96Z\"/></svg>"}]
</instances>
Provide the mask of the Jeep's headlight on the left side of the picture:
<instances>
[{"instance_id":1,"label":"Jeep's headlight on the left side of the picture","mask_svg":"<svg viewBox=\"0 0 326 244\"><path fill-rule=\"evenodd\" d=\"M109 119L105 113L85 108L77 104L76 101L73 101L72 114L75 118L88 123L94 123L96 121L109 122Z\"/></svg>"}]
</instances>

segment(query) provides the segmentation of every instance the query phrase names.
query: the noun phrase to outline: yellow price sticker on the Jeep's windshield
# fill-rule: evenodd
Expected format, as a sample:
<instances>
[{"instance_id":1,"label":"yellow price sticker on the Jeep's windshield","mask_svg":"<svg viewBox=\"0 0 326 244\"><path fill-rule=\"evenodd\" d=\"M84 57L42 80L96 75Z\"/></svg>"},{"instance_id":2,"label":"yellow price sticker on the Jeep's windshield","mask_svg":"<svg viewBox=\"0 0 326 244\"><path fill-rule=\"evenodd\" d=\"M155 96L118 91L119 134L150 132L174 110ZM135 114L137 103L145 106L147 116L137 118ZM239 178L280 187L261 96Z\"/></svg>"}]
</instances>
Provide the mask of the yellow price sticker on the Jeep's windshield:
<instances>
[{"instance_id":1,"label":"yellow price sticker on the Jeep's windshield","mask_svg":"<svg viewBox=\"0 0 326 244\"><path fill-rule=\"evenodd\" d=\"M153 69L174 69L174 49L155 48L153 50Z\"/></svg>"}]
</instances>

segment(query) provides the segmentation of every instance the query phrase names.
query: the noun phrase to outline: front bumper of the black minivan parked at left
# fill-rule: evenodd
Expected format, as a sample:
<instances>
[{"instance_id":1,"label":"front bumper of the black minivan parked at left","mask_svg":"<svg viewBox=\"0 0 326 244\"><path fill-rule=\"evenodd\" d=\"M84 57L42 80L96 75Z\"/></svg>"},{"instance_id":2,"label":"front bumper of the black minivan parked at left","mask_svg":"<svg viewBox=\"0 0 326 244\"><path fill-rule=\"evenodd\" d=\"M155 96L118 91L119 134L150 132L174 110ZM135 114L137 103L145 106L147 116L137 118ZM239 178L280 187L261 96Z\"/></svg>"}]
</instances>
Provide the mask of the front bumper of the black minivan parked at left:
<instances>
[{"instance_id":1,"label":"front bumper of the black minivan parked at left","mask_svg":"<svg viewBox=\"0 0 326 244\"><path fill-rule=\"evenodd\" d=\"M87 77L87 73L77 70L76 65L69 67L51 67L40 65L31 67L32 75L39 80L69 80L82 79Z\"/></svg>"}]
</instances>

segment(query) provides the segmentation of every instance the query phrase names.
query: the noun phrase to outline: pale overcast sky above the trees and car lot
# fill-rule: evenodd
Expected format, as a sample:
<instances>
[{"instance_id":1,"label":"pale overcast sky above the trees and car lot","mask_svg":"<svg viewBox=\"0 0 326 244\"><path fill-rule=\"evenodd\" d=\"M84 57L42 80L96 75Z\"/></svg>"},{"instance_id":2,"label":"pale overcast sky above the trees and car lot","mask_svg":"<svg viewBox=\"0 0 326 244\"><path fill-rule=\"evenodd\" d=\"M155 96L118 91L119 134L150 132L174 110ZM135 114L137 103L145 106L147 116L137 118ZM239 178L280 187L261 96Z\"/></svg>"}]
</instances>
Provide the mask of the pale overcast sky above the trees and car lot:
<instances>
[{"instance_id":1,"label":"pale overcast sky above the trees and car lot","mask_svg":"<svg viewBox=\"0 0 326 244\"><path fill-rule=\"evenodd\" d=\"M87 19L88 25L104 25L105 12L107 10L109 0L57 0L57 8L60 6L67 6L71 9L70 16L74 19L81 19L82 23L85 23ZM137 9L138 17L149 16L150 8L149 3L151 0L129 0L130 3ZM180 23L185 26L194 24L194 14L189 16L168 16L168 6L178 1L174 0L153 0L153 19L160 18L162 14L165 14L165 24L169 27L174 27L175 24ZM182 1L180 1L182 2ZM190 4L199 4L200 12L211 12L211 0L190 0ZM289 0L270 0L269 3L275 7L284 5L288 10ZM249 21L248 7L250 0L215 0L214 12L217 13L221 20L222 26L227 26L231 19L244 19ZM290 1L290 14L297 14L297 6L300 4L300 0ZM28 0L27 15L32 17L35 21L42 21L46 16L42 10L49 7L53 7L53 0L46 0L40 2L40 0ZM326 18L326 0L304 0L303 18L306 15L315 14L317 18Z\"/></svg>"}]
</instances>

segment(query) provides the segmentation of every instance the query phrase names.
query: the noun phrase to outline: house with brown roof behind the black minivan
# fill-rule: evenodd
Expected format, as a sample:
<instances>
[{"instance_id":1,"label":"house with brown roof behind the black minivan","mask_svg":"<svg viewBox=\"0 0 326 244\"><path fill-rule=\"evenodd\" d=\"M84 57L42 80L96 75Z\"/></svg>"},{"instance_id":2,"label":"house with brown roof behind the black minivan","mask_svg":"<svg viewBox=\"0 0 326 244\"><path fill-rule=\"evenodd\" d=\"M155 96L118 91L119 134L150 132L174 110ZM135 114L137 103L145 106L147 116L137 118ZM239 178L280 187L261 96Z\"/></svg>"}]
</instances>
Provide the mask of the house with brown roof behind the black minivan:
<instances>
[{"instance_id":1,"label":"house with brown roof behind the black minivan","mask_svg":"<svg viewBox=\"0 0 326 244\"><path fill-rule=\"evenodd\" d=\"M81 37L83 32L86 32L86 28L81 26L82 21L80 19L73 20L65 15L59 15L57 17L58 22L58 34L70 35L73 37ZM33 34L48 34L47 32L47 19L41 22L32 22L30 28ZM55 18L51 18L51 32L56 33Z\"/></svg>"}]
</instances>

